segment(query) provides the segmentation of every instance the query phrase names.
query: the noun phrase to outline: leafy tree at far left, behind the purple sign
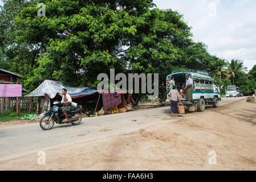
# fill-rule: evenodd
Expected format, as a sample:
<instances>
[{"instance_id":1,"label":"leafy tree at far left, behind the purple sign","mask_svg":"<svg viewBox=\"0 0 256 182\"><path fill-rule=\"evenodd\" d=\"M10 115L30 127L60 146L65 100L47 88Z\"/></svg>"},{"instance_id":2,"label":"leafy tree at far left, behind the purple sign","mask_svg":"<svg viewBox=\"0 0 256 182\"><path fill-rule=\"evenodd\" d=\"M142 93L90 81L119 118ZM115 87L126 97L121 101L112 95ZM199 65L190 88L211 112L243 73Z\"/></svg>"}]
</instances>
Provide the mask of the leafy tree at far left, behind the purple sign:
<instances>
[{"instance_id":1,"label":"leafy tree at far left, behind the purple sign","mask_svg":"<svg viewBox=\"0 0 256 182\"><path fill-rule=\"evenodd\" d=\"M18 42L17 32L23 31L22 24L15 24L22 9L35 6L36 0L4 0L0 10L0 68L17 72L24 83L36 67L38 51L26 42Z\"/></svg>"}]
</instances>

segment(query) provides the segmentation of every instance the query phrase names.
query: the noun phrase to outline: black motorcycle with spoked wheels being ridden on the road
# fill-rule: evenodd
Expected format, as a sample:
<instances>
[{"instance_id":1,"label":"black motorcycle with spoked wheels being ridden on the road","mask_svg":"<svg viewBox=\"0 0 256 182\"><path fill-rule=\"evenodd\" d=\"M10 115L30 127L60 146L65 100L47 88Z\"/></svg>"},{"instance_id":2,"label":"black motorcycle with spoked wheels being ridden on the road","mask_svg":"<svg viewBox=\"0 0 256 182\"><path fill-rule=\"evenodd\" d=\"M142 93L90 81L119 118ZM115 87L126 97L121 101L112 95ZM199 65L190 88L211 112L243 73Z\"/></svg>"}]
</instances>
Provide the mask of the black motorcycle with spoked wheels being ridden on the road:
<instances>
[{"instance_id":1,"label":"black motorcycle with spoked wheels being ridden on the road","mask_svg":"<svg viewBox=\"0 0 256 182\"><path fill-rule=\"evenodd\" d=\"M67 113L68 114L68 122L62 122L65 119L63 113L58 111L59 107L62 106L60 101L54 101L54 106L52 109L45 113L44 116L40 119L40 127L43 130L50 130L54 126L54 123L63 124L63 123L71 123L72 125L79 125L82 121L81 110L82 106L78 105L76 107L72 106L71 110Z\"/></svg>"}]
</instances>

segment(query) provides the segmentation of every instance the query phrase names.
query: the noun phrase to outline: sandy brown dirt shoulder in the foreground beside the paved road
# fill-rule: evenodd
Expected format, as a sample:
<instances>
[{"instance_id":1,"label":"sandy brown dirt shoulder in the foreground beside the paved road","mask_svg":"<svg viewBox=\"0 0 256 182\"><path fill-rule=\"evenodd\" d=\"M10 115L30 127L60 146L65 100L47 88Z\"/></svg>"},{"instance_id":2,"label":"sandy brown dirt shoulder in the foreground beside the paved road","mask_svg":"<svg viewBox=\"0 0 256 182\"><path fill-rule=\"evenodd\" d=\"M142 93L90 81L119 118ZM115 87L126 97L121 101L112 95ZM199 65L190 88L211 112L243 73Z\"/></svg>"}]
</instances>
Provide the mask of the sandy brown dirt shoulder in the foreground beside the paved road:
<instances>
[{"instance_id":1,"label":"sandy brown dirt shoulder in the foreground beside the paved road","mask_svg":"<svg viewBox=\"0 0 256 182\"><path fill-rule=\"evenodd\" d=\"M206 109L181 122L68 144L0 162L1 170L256 170L256 104ZM209 155L210 154L210 155ZM209 164L215 157L216 164ZM214 161L214 160L213 160Z\"/></svg>"}]
</instances>

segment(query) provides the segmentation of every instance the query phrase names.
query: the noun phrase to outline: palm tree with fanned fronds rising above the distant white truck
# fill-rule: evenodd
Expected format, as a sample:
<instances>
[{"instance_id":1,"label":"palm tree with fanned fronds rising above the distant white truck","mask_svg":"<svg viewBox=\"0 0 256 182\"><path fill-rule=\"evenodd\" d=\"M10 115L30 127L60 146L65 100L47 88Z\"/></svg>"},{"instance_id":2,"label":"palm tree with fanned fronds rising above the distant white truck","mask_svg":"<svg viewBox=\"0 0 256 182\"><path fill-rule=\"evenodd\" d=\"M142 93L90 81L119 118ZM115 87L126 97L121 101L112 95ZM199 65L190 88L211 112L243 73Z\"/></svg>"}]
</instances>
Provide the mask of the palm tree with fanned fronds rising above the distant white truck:
<instances>
[{"instance_id":1,"label":"palm tree with fanned fronds rising above the distant white truck","mask_svg":"<svg viewBox=\"0 0 256 182\"><path fill-rule=\"evenodd\" d=\"M226 78L233 79L233 85L235 85L234 78L238 75L247 76L245 73L246 71L247 68L243 67L243 61L234 59L231 60L231 63L227 64L226 69L222 69L222 72Z\"/></svg>"}]
</instances>

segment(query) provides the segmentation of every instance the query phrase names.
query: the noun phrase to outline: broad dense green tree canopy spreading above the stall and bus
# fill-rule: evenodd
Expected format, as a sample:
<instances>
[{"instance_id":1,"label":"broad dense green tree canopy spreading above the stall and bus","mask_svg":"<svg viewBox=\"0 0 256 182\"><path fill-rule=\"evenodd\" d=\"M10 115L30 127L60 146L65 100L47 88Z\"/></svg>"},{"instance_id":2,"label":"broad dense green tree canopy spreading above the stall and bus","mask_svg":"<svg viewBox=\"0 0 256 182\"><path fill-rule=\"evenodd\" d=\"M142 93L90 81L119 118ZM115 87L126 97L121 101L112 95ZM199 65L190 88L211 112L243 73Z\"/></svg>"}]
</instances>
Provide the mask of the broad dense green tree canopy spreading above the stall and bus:
<instances>
[{"instance_id":1,"label":"broad dense green tree canopy spreading above the stall and bus","mask_svg":"<svg viewBox=\"0 0 256 182\"><path fill-rule=\"evenodd\" d=\"M110 68L159 73L161 85L174 69L219 75L227 65L193 42L181 14L152 0L40 1L46 16L38 16L38 2L5 1L0 13L2 55L29 90L46 79L96 88L97 75Z\"/></svg>"}]
</instances>

